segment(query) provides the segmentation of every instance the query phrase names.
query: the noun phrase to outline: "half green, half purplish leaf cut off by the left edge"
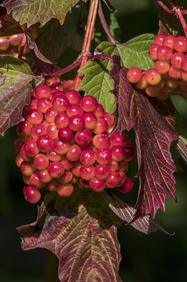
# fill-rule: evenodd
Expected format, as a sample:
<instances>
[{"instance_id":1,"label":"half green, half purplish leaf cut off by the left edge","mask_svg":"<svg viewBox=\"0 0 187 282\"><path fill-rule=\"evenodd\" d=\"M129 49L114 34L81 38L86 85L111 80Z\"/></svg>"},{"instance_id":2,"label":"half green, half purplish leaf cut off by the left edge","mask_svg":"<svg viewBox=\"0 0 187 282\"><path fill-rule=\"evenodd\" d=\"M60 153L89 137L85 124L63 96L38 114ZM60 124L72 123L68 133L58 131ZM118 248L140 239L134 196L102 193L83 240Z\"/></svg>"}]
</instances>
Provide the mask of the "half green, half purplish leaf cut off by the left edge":
<instances>
[{"instance_id":1,"label":"half green, half purplish leaf cut off by the left edge","mask_svg":"<svg viewBox=\"0 0 187 282\"><path fill-rule=\"evenodd\" d=\"M0 134L21 122L22 108L30 102L31 80L35 77L29 65L12 56L1 56Z\"/></svg>"}]
</instances>

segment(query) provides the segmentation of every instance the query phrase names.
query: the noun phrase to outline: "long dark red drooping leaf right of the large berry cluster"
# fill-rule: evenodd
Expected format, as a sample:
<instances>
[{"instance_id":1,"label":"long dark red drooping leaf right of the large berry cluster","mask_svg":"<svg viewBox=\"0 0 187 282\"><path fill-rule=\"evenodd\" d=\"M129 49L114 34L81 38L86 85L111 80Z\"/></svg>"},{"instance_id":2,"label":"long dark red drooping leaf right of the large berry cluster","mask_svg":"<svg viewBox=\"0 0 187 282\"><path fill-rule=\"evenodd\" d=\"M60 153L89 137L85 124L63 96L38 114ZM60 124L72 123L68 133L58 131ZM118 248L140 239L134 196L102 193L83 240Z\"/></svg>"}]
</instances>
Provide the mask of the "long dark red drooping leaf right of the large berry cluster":
<instances>
[{"instance_id":1,"label":"long dark red drooping leaf right of the large berry cluster","mask_svg":"<svg viewBox=\"0 0 187 282\"><path fill-rule=\"evenodd\" d=\"M116 97L115 131L134 129L136 134L139 192L134 219L148 213L154 217L158 208L165 210L169 195L176 200L176 171L170 145L178 138L175 130L174 108L136 92L126 78L127 69L120 65L120 57L113 56L109 73L114 80L112 93ZM111 134L112 134L111 133Z\"/></svg>"}]
</instances>

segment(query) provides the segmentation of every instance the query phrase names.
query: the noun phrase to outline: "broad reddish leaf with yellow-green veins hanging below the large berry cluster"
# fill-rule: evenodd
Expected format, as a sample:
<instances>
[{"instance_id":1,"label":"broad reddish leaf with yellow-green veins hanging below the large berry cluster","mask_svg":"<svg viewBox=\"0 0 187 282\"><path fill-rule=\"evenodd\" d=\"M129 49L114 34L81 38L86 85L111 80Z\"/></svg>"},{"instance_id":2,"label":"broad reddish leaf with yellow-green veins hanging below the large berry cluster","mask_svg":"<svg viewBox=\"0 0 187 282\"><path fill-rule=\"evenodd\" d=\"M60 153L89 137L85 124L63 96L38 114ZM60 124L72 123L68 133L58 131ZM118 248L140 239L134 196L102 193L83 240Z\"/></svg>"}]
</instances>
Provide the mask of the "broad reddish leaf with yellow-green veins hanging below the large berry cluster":
<instances>
[{"instance_id":1,"label":"broad reddish leaf with yellow-green veins hanging below the large berry cluster","mask_svg":"<svg viewBox=\"0 0 187 282\"><path fill-rule=\"evenodd\" d=\"M75 188L68 198L50 192L35 223L18 231L23 250L47 248L58 256L61 282L120 282L116 228L122 222L100 193Z\"/></svg>"}]
</instances>

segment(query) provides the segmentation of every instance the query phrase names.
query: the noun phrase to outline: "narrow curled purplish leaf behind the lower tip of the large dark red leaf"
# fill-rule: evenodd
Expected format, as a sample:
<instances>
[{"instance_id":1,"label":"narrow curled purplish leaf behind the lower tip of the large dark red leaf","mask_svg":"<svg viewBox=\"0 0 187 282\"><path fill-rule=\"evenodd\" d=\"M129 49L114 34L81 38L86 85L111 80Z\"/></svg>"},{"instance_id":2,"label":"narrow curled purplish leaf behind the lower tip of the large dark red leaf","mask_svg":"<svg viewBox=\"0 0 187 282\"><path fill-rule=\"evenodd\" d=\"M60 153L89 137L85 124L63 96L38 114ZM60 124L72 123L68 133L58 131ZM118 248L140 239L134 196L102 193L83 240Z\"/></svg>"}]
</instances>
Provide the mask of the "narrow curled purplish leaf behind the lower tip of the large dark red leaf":
<instances>
[{"instance_id":1,"label":"narrow curled purplish leaf behind the lower tip of the large dark red leaf","mask_svg":"<svg viewBox=\"0 0 187 282\"><path fill-rule=\"evenodd\" d=\"M103 191L101 194L110 209L122 220L127 221L127 223L130 223L133 220L136 212L135 209L124 203L123 200L110 191ZM131 226L146 234L160 230L167 235L171 235L149 215L136 219Z\"/></svg>"}]
</instances>

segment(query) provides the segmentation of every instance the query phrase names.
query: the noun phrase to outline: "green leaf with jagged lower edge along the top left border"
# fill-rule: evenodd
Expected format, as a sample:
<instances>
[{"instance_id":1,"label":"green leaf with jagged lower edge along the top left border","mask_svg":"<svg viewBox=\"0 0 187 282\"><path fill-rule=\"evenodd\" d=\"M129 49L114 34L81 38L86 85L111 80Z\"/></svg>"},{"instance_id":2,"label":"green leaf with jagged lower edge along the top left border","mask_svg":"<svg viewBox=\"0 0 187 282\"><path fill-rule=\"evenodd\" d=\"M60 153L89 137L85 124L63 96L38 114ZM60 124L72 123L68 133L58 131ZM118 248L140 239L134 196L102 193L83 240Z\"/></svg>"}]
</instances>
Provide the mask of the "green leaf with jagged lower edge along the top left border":
<instances>
[{"instance_id":1,"label":"green leaf with jagged lower edge along the top left border","mask_svg":"<svg viewBox=\"0 0 187 282\"><path fill-rule=\"evenodd\" d=\"M7 8L8 14L12 11L13 18L20 21L21 25L27 23L31 26L40 22L43 26L53 17L62 25L67 12L78 2L79 0L5 0L2 6Z\"/></svg>"}]
</instances>

